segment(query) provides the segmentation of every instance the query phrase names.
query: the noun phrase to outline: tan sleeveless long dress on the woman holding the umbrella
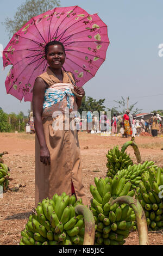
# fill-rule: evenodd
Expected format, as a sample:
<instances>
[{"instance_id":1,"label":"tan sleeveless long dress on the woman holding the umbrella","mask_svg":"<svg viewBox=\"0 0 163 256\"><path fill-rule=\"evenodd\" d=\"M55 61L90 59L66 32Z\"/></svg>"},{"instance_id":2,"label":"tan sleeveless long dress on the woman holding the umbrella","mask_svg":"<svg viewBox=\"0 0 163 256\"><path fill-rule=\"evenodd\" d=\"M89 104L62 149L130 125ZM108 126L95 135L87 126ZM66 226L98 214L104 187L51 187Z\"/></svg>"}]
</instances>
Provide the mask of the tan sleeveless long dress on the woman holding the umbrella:
<instances>
[{"instance_id":1,"label":"tan sleeveless long dress on the woman holding the umbrella","mask_svg":"<svg viewBox=\"0 0 163 256\"><path fill-rule=\"evenodd\" d=\"M71 73L68 73L72 80ZM40 75L49 86L58 90L73 88L70 78L63 71L63 83L60 83L53 72L47 68L47 71ZM48 89L49 89L48 88ZM76 98L69 96L71 106L69 112L77 111ZM62 101L53 104L50 107L43 108L42 123L45 134L46 144L51 155L51 165L45 166L40 162L40 144L35 136L35 205L43 198L52 198L55 193L59 195L66 192L71 196L71 182L73 182L77 199L82 198L83 203L87 204L87 197L82 183L82 167L80 162L80 148L77 130L54 130L54 124L58 125L60 121L65 125L68 122L67 114L67 96ZM53 117L55 111L60 111L58 117ZM69 119L72 126L75 126L74 119Z\"/></svg>"}]
</instances>

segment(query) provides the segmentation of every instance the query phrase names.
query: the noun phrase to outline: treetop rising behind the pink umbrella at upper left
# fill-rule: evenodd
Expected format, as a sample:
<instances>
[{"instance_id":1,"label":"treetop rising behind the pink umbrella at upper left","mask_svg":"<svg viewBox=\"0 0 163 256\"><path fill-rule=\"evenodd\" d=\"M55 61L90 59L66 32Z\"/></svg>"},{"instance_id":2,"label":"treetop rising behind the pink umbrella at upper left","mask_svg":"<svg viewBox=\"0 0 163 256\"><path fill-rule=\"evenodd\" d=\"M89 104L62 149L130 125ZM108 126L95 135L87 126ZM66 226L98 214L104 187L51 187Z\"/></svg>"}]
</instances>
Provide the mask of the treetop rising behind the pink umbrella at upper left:
<instances>
[{"instance_id":1,"label":"treetop rising behind the pink umbrella at upper left","mask_svg":"<svg viewBox=\"0 0 163 256\"><path fill-rule=\"evenodd\" d=\"M2 24L9 37L21 29L32 17L60 6L60 0L26 0L17 8L14 19L7 17Z\"/></svg>"}]
</instances>

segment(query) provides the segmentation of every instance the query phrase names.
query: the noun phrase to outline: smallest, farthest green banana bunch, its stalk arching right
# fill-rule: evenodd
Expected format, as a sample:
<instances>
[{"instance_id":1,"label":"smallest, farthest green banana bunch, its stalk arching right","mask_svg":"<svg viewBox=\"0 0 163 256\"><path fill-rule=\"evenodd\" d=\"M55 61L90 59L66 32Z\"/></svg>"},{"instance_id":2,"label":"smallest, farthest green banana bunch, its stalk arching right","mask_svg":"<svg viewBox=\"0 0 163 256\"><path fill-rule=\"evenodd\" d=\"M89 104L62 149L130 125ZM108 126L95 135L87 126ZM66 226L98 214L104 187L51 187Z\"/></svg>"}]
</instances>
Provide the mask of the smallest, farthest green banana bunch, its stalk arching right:
<instances>
[{"instance_id":1,"label":"smallest, farthest green banana bunch, its stalk arching right","mask_svg":"<svg viewBox=\"0 0 163 256\"><path fill-rule=\"evenodd\" d=\"M106 175L111 178L114 177L118 170L127 169L129 165L133 165L133 161L130 159L130 156L127 155L126 152L120 151L118 146L108 150L106 157L108 161L106 163L106 167L108 168Z\"/></svg>"}]
</instances>

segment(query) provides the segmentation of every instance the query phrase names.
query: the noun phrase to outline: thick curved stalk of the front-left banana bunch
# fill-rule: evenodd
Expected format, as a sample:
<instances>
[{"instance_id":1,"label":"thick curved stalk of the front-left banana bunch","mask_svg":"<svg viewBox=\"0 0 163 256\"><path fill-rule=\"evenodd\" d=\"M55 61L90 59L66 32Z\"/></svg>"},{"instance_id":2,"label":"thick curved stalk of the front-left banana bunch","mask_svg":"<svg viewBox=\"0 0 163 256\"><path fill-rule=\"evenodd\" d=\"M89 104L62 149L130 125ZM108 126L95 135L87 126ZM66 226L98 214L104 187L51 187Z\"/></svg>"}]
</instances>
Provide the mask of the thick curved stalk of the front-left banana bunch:
<instances>
[{"instance_id":1,"label":"thick curved stalk of the front-left banana bunch","mask_svg":"<svg viewBox=\"0 0 163 256\"><path fill-rule=\"evenodd\" d=\"M85 223L85 234L83 245L94 245L95 240L95 220L92 212L85 205L77 205L75 211L78 215L83 215Z\"/></svg>"}]
</instances>

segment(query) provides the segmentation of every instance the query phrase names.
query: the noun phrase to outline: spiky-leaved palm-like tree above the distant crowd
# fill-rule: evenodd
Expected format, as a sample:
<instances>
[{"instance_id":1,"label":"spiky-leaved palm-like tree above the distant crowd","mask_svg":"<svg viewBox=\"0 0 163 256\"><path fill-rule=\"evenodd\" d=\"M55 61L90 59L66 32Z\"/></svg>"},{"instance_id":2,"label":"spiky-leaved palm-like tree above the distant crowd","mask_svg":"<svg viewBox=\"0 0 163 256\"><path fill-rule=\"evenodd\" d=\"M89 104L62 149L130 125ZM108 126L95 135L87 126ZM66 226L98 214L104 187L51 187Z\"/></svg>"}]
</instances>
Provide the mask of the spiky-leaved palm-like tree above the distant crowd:
<instances>
[{"instance_id":1,"label":"spiky-leaved palm-like tree above the distant crowd","mask_svg":"<svg viewBox=\"0 0 163 256\"><path fill-rule=\"evenodd\" d=\"M137 107L135 108L135 105L137 104L138 101L136 101L135 103L129 105L129 96L127 97L127 100L125 100L124 97L122 97L122 100L119 100L119 101L114 100L114 101L118 104L118 107L114 107L114 108L121 115L126 113L126 109L127 108L130 110L131 114L140 114L141 111L142 111L142 109L138 109Z\"/></svg>"}]
</instances>

